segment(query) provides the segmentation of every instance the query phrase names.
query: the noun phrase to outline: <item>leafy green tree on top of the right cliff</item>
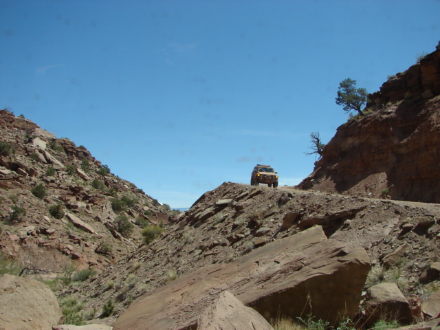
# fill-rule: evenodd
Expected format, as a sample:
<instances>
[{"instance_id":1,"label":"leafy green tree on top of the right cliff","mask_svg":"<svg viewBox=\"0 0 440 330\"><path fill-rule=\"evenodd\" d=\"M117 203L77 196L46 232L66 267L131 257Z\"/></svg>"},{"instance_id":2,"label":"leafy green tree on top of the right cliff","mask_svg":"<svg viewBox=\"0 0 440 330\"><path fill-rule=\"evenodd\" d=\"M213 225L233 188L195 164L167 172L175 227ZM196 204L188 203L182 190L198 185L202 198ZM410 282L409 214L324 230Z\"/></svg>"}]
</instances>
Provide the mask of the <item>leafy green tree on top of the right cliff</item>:
<instances>
[{"instance_id":1,"label":"leafy green tree on top of the right cliff","mask_svg":"<svg viewBox=\"0 0 440 330\"><path fill-rule=\"evenodd\" d=\"M366 89L356 88L356 80L347 78L339 84L336 104L343 105L346 112L354 110L362 116L364 115L362 107L366 103L367 95Z\"/></svg>"}]
</instances>

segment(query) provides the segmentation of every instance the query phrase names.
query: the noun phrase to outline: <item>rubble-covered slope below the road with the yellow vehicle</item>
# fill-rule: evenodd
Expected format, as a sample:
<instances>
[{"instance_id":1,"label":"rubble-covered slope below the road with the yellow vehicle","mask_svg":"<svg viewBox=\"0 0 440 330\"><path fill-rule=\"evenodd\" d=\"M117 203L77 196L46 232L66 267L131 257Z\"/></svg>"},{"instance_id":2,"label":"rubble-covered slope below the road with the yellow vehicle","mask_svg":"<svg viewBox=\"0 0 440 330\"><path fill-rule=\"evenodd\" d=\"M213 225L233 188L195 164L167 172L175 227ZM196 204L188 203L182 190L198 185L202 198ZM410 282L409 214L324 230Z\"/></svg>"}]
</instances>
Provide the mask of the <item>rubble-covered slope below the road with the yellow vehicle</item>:
<instances>
[{"instance_id":1,"label":"rubble-covered slope below the road with the yellow vehicle","mask_svg":"<svg viewBox=\"0 0 440 330\"><path fill-rule=\"evenodd\" d=\"M435 270L440 261L440 206L437 204L311 193L292 187L273 189L224 183L206 192L189 211L181 213L164 236L141 245L131 256L85 282L76 289L75 295L85 301L86 310L100 311L112 300L114 314L99 321L113 325L134 299L138 298L136 303L149 301L146 300L148 296L154 295L159 287L168 287L170 284L167 283L175 278L181 281L177 285L190 287L195 280L188 280L188 276L196 276L193 272L200 273L199 270L206 265L220 265L223 269L226 266L221 265L241 264L241 258L246 255L257 253L265 245L293 237L314 225L319 225L332 241L346 244L346 251L351 249L350 246L358 246L369 255L373 272L365 288L362 283L361 290L381 281L397 283L406 297L415 296L420 302L440 287L440 269ZM302 252L303 256L305 254ZM201 271L202 274L210 272L213 270ZM426 272L429 272L429 278L424 275ZM260 278L259 281L270 285L269 278ZM223 286L232 287L233 293L237 294L240 286L234 289L231 284L234 281L236 278ZM257 283L261 283L259 281ZM332 287L329 278L325 281ZM203 283L209 283L208 278ZM215 281L211 284L212 287L219 285ZM164 294L164 289L160 292L159 296ZM358 305L351 308L362 314ZM159 318L158 313L154 313L154 317ZM133 322L140 317L128 315ZM128 329L125 326L124 323L116 329ZM143 326L145 324L129 329L145 329ZM148 329L161 329L149 326ZM186 326L188 324L170 329L184 329Z\"/></svg>"}]
</instances>

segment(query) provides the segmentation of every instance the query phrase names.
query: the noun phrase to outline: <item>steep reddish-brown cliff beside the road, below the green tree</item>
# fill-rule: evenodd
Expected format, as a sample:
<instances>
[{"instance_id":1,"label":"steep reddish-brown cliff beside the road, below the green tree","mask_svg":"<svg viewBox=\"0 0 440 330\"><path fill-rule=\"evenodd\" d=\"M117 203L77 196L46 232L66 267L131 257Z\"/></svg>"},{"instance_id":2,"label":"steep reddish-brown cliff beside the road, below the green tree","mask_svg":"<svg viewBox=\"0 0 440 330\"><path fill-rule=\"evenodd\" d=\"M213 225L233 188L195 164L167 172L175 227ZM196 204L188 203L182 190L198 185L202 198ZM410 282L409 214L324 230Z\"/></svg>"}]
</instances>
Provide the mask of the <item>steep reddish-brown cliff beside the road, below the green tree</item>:
<instances>
[{"instance_id":1,"label":"steep reddish-brown cliff beside the road, below the green tree","mask_svg":"<svg viewBox=\"0 0 440 330\"><path fill-rule=\"evenodd\" d=\"M440 203L440 50L369 96L298 187Z\"/></svg>"}]
</instances>

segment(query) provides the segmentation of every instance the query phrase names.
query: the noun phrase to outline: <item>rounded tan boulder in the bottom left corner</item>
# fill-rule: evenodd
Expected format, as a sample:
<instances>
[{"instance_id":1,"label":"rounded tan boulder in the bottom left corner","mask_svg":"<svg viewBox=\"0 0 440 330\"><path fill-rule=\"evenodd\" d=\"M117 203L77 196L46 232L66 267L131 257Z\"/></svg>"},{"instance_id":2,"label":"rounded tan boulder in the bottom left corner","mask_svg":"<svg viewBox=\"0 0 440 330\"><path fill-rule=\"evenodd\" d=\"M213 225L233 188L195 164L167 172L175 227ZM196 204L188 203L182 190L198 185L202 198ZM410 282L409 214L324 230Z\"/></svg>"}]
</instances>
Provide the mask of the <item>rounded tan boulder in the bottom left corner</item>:
<instances>
[{"instance_id":1,"label":"rounded tan boulder in the bottom left corner","mask_svg":"<svg viewBox=\"0 0 440 330\"><path fill-rule=\"evenodd\" d=\"M9 274L0 277L0 329L50 329L62 316L54 293L42 283Z\"/></svg>"}]
</instances>

